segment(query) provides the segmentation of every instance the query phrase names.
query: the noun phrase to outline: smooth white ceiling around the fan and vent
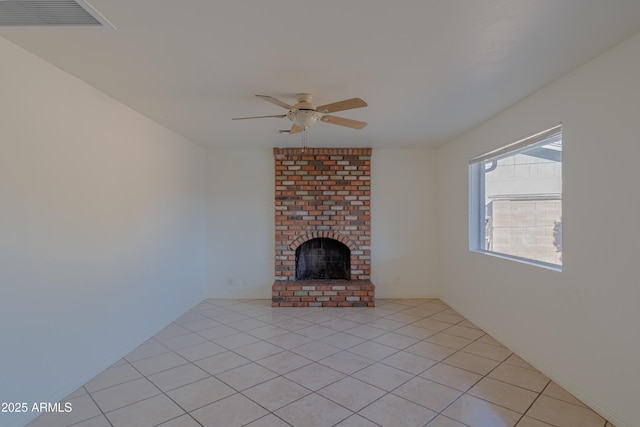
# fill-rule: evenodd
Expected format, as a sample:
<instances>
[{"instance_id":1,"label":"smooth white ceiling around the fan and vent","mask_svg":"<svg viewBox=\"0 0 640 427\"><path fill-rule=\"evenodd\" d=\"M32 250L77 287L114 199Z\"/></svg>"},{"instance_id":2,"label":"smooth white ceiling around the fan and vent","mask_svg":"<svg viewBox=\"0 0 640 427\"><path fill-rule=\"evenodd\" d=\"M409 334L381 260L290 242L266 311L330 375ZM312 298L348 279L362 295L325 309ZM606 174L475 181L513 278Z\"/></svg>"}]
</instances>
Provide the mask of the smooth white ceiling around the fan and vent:
<instances>
[{"instance_id":1,"label":"smooth white ceiling around the fan and vent","mask_svg":"<svg viewBox=\"0 0 640 427\"><path fill-rule=\"evenodd\" d=\"M115 27L3 29L184 137L298 146L265 94L351 97L311 146L438 146L640 31L638 0L89 0ZM6 83L6 82L5 82ZM559 118L561 120L561 118Z\"/></svg>"}]
</instances>

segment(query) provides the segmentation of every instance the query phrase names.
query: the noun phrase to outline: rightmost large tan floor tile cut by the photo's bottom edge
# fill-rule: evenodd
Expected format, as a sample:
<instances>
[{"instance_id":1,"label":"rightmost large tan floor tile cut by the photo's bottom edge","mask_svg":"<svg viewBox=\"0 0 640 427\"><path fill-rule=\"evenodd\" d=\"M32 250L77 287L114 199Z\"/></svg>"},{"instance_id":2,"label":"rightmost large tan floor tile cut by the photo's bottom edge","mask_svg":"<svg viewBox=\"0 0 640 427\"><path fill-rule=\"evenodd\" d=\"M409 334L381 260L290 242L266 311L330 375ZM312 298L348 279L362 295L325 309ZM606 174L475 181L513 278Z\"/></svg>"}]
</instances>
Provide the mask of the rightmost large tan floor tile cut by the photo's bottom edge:
<instances>
[{"instance_id":1,"label":"rightmost large tan floor tile cut by the photo's bottom edge","mask_svg":"<svg viewBox=\"0 0 640 427\"><path fill-rule=\"evenodd\" d=\"M557 427L602 427L605 420L589 408L540 395L526 413Z\"/></svg>"}]
</instances>

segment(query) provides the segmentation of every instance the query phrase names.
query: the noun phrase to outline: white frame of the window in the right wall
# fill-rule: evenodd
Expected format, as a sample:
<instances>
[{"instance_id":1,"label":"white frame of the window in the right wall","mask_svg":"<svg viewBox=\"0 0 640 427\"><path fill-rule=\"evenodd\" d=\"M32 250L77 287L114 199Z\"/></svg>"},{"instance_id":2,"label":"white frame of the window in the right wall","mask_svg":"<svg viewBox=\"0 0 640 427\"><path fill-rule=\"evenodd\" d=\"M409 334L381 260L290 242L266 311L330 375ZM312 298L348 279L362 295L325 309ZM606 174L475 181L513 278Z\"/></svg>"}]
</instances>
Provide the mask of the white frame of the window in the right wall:
<instances>
[{"instance_id":1,"label":"white frame of the window in the right wall","mask_svg":"<svg viewBox=\"0 0 640 427\"><path fill-rule=\"evenodd\" d=\"M562 140L562 123L552 126L544 131L537 132L531 136L520 139L511 144L507 144L498 149L491 150L469 160L469 251L491 255L497 258L508 259L537 267L546 268L553 271L562 271L562 264L554 264L511 255L502 252L492 251L486 248L486 206L485 206L485 173L482 168L489 160L500 160L506 157L515 156L534 148L536 145L546 145L549 140L560 136ZM564 142L564 141L563 141ZM561 170L563 168L561 161ZM562 177L562 175L561 175ZM560 201L562 202L564 189L561 189Z\"/></svg>"}]
</instances>

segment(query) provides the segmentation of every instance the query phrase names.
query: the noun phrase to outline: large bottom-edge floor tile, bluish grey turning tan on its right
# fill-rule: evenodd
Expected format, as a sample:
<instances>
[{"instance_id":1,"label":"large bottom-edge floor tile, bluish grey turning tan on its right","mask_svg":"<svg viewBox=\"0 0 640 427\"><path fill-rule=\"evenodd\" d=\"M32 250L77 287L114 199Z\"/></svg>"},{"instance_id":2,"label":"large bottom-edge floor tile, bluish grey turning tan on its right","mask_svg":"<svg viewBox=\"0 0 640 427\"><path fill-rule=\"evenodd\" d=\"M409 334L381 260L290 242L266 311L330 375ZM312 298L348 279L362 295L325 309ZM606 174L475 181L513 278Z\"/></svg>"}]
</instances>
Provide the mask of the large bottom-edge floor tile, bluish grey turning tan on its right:
<instances>
[{"instance_id":1,"label":"large bottom-edge floor tile, bluish grey turning tan on its right","mask_svg":"<svg viewBox=\"0 0 640 427\"><path fill-rule=\"evenodd\" d=\"M470 426L512 427L521 414L477 397L464 395L444 412L449 418Z\"/></svg>"}]
</instances>

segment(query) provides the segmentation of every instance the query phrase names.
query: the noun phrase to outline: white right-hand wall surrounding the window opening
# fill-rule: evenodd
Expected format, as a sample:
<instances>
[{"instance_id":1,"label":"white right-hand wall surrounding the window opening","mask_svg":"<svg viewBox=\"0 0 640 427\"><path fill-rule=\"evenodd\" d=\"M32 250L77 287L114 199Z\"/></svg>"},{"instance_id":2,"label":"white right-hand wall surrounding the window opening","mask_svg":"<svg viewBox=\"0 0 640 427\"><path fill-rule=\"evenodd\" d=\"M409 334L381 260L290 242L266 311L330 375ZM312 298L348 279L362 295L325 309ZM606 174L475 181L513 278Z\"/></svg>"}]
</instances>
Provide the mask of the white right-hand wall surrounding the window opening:
<instances>
[{"instance_id":1,"label":"white right-hand wall surrounding the window opening","mask_svg":"<svg viewBox=\"0 0 640 427\"><path fill-rule=\"evenodd\" d=\"M438 160L445 301L618 427L640 425L638 76L640 35L445 145ZM468 160L558 122L563 271L469 252Z\"/></svg>"}]
</instances>

